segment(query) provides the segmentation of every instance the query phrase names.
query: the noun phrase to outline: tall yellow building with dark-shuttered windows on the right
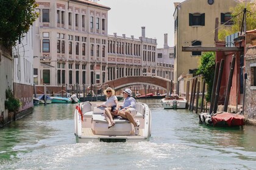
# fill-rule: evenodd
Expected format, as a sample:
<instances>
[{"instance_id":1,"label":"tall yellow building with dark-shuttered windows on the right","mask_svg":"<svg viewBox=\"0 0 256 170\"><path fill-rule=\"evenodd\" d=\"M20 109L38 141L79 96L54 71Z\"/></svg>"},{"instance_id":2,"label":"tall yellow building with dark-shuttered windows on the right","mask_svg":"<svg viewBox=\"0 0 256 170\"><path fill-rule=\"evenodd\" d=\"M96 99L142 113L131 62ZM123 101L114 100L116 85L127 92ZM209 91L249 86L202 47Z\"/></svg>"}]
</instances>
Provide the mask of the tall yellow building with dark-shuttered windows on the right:
<instances>
[{"instance_id":1,"label":"tall yellow building with dark-shuttered windows on the right","mask_svg":"<svg viewBox=\"0 0 256 170\"><path fill-rule=\"evenodd\" d=\"M180 75L193 73L198 67L201 52L182 52L182 46L214 46L215 21L230 27L230 7L235 0L187 0L176 2L174 12L174 81Z\"/></svg>"}]
</instances>

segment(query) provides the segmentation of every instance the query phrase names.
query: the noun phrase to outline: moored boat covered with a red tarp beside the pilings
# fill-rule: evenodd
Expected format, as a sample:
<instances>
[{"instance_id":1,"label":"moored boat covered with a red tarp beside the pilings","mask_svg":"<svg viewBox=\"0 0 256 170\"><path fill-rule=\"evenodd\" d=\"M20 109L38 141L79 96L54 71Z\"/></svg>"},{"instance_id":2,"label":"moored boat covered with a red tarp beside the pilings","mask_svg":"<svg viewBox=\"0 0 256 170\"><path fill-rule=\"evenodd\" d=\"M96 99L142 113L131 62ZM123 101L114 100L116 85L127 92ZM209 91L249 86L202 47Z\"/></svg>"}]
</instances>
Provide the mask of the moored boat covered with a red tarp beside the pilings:
<instances>
[{"instance_id":1,"label":"moored boat covered with a red tarp beside the pilings","mask_svg":"<svg viewBox=\"0 0 256 170\"><path fill-rule=\"evenodd\" d=\"M231 114L221 112L220 114L210 115L208 113L199 114L199 123L210 126L243 126L245 123L244 116L240 114Z\"/></svg>"}]
</instances>

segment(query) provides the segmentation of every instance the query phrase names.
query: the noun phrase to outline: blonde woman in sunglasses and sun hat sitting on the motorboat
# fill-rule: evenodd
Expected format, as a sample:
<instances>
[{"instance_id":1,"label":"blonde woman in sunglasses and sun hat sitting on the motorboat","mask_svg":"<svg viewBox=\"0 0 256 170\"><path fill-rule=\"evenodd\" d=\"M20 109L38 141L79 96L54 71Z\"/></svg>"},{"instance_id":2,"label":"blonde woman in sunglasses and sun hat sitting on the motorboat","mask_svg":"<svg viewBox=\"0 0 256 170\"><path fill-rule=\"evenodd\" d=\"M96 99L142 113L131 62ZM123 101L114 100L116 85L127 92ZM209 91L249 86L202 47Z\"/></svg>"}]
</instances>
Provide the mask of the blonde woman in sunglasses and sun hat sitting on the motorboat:
<instances>
[{"instance_id":1,"label":"blonde woman in sunglasses and sun hat sitting on the motorboat","mask_svg":"<svg viewBox=\"0 0 256 170\"><path fill-rule=\"evenodd\" d=\"M98 105L98 107L106 107L104 109L104 117L108 122L108 128L110 128L115 125L113 117L118 116L118 98L115 96L115 90L111 87L107 87L107 89L104 90L104 94L107 96L107 101L102 105Z\"/></svg>"}]
</instances>

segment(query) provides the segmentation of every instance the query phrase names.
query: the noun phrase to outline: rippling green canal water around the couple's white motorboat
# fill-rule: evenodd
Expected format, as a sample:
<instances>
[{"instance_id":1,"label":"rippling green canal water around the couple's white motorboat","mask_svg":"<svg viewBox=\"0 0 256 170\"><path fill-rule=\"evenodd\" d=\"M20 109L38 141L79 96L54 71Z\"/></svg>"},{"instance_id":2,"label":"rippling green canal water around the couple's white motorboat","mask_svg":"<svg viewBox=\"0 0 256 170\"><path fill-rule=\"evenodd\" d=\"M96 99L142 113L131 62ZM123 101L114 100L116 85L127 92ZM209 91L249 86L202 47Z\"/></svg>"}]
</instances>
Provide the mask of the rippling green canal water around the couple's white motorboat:
<instances>
[{"instance_id":1,"label":"rippling green canal water around the couple's white motorboat","mask_svg":"<svg viewBox=\"0 0 256 170\"><path fill-rule=\"evenodd\" d=\"M0 169L256 169L256 127L198 124L187 110L148 103L152 137L139 143L76 143L76 104L35 106L0 129Z\"/></svg>"}]
</instances>

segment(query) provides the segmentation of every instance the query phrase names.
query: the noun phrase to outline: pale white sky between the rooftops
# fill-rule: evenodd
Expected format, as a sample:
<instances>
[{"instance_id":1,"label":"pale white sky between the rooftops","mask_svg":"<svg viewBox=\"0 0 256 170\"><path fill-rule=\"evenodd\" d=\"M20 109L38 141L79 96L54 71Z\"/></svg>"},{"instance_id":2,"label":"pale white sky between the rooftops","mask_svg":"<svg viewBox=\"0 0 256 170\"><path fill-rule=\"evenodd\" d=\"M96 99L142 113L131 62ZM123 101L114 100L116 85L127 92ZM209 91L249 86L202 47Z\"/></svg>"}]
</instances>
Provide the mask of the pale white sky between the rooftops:
<instances>
[{"instance_id":1,"label":"pale white sky between the rooftops","mask_svg":"<svg viewBox=\"0 0 256 170\"><path fill-rule=\"evenodd\" d=\"M148 38L157 39L162 48L164 34L168 33L168 46L174 46L174 2L185 0L100 0L98 4L110 7L108 11L108 35L126 34L141 36L141 27L146 27Z\"/></svg>"}]
</instances>

